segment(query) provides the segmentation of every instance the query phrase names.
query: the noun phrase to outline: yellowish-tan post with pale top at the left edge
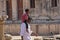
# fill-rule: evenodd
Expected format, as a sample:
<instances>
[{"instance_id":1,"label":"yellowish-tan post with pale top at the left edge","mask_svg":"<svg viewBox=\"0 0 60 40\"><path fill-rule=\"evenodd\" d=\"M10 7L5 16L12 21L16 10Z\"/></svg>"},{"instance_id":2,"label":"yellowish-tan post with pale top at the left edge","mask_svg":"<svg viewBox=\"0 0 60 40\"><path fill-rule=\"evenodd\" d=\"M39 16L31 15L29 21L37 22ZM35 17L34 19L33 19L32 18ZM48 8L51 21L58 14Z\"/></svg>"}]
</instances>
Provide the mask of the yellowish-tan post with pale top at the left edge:
<instances>
[{"instance_id":1,"label":"yellowish-tan post with pale top at the left edge","mask_svg":"<svg viewBox=\"0 0 60 40\"><path fill-rule=\"evenodd\" d=\"M5 40L4 38L4 20L6 20L7 16L0 15L0 40Z\"/></svg>"}]
</instances>

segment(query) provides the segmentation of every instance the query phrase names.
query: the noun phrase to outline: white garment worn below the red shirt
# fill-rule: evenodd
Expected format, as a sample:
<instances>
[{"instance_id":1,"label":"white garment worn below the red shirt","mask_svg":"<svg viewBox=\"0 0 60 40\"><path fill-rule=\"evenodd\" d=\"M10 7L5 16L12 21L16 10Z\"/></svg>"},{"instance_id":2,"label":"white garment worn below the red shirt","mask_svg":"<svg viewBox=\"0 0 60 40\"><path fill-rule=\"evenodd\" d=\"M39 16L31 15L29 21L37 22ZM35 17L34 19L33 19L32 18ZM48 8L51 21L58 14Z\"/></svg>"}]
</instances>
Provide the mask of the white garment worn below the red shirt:
<instances>
[{"instance_id":1,"label":"white garment worn below the red shirt","mask_svg":"<svg viewBox=\"0 0 60 40\"><path fill-rule=\"evenodd\" d=\"M26 32L26 24L25 23L22 23L21 24L21 32L20 32L20 35L23 36L23 39L24 40L30 40L31 39L30 35L31 35L32 31L30 30L30 25L29 24L28 24L28 32Z\"/></svg>"}]
</instances>

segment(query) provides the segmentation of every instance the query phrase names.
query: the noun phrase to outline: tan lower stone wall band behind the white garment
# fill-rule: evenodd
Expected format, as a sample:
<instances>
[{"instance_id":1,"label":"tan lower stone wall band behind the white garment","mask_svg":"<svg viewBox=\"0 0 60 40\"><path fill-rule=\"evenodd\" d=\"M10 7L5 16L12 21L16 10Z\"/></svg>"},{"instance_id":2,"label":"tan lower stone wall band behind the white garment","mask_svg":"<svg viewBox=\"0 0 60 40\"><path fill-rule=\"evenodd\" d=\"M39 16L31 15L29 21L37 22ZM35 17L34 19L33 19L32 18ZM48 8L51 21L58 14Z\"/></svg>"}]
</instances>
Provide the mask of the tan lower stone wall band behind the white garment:
<instances>
[{"instance_id":1,"label":"tan lower stone wall band behind the white garment","mask_svg":"<svg viewBox=\"0 0 60 40\"><path fill-rule=\"evenodd\" d=\"M8 24L4 25L6 33L19 34L20 33L20 24ZM31 24L31 30L37 32L39 35L50 35L60 33L60 24Z\"/></svg>"}]
</instances>

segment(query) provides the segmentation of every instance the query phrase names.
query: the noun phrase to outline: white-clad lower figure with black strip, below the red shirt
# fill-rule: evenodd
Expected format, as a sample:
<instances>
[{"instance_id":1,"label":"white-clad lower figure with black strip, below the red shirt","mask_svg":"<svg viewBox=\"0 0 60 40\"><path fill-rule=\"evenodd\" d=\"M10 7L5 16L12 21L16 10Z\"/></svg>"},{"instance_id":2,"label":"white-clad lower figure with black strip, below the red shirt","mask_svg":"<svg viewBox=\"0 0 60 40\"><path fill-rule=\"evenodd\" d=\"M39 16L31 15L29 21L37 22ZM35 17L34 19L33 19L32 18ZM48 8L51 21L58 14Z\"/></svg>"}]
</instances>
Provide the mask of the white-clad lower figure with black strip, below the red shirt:
<instances>
[{"instance_id":1,"label":"white-clad lower figure with black strip, below the red shirt","mask_svg":"<svg viewBox=\"0 0 60 40\"><path fill-rule=\"evenodd\" d=\"M28 20L25 20L22 24L21 24L21 38L22 40L30 40L31 37L30 35L33 33L30 29L30 21L31 19L28 18ZM34 33L35 34L35 33ZM37 35L37 34L35 34Z\"/></svg>"}]
</instances>

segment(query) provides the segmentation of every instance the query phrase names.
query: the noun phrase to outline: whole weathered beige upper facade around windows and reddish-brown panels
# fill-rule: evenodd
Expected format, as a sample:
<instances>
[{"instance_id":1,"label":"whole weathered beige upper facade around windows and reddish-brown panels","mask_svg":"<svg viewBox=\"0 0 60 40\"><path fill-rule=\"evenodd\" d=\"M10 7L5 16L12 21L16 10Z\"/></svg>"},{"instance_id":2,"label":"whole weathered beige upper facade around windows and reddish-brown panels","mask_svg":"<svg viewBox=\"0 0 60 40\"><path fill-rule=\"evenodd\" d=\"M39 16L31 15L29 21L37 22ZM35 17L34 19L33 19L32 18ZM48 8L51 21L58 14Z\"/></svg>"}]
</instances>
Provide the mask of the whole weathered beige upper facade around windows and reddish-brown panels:
<instances>
[{"instance_id":1,"label":"whole weathered beige upper facade around windows and reddish-brown panels","mask_svg":"<svg viewBox=\"0 0 60 40\"><path fill-rule=\"evenodd\" d=\"M17 20L18 8L17 0L12 0L12 19ZM30 8L30 0L23 0L23 12L26 8L30 9L30 16L39 18L50 16L53 19L60 19L60 1L57 7L51 7L51 0L35 0L35 8ZM21 9L22 10L22 9ZM6 0L0 0L0 14L6 15Z\"/></svg>"}]
</instances>

